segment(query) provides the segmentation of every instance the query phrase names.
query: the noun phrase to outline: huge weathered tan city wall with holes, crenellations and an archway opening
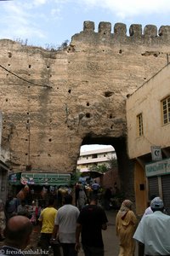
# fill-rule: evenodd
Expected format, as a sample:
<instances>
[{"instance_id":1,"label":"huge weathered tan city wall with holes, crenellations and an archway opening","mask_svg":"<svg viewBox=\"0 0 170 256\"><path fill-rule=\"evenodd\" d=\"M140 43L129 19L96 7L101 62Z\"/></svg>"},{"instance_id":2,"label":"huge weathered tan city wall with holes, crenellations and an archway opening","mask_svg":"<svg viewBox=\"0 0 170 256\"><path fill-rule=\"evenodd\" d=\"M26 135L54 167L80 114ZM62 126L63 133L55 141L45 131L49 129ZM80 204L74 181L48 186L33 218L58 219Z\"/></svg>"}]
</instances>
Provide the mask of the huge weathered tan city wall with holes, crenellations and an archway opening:
<instances>
[{"instance_id":1,"label":"huge weathered tan city wall with holes, crenellations and an archway opening","mask_svg":"<svg viewBox=\"0 0 170 256\"><path fill-rule=\"evenodd\" d=\"M3 160L13 172L74 172L83 143L116 148L122 188L133 195L127 95L167 65L170 26L85 21L63 50L0 40ZM8 72L9 71L9 72Z\"/></svg>"}]
</instances>

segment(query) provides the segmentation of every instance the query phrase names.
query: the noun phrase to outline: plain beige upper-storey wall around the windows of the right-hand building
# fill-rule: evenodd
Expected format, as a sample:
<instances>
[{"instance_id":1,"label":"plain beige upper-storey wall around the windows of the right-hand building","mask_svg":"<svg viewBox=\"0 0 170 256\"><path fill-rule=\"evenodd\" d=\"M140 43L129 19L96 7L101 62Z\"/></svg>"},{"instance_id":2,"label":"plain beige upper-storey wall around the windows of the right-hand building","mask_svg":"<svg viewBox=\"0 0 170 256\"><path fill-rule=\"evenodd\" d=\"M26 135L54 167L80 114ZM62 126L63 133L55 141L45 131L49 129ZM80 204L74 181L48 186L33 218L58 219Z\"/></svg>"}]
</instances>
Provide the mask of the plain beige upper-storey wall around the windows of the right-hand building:
<instances>
[{"instance_id":1,"label":"plain beige upper-storey wall around the windows of the right-hand building","mask_svg":"<svg viewBox=\"0 0 170 256\"><path fill-rule=\"evenodd\" d=\"M170 124L162 125L161 100L170 96L170 65L127 98L127 148L130 159L150 153L151 146L170 146ZM137 135L137 115L143 114L144 135Z\"/></svg>"}]
</instances>

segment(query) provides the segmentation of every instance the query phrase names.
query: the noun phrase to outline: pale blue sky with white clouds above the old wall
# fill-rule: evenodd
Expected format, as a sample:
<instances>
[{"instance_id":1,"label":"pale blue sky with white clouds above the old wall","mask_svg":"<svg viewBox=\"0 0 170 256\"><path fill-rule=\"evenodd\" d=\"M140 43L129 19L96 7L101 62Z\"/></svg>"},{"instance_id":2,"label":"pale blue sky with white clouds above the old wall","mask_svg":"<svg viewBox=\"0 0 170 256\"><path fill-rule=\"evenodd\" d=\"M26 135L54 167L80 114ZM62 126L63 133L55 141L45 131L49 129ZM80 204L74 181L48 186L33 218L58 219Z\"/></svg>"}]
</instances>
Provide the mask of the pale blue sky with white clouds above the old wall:
<instances>
[{"instance_id":1,"label":"pale blue sky with white clouds above the old wall","mask_svg":"<svg viewBox=\"0 0 170 256\"><path fill-rule=\"evenodd\" d=\"M0 38L58 47L91 20L127 25L170 25L169 0L0 0Z\"/></svg>"}]
</instances>

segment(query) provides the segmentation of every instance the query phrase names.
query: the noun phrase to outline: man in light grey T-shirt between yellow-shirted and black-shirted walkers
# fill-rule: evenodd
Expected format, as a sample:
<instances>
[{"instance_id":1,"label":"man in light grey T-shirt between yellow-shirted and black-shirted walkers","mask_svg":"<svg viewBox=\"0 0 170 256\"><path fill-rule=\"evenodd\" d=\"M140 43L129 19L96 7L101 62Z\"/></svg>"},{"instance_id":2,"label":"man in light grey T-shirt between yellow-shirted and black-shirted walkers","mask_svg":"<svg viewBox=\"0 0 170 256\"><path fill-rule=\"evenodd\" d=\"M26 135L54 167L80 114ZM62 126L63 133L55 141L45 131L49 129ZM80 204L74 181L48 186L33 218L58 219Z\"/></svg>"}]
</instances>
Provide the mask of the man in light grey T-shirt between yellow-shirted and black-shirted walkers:
<instances>
[{"instance_id":1,"label":"man in light grey T-shirt between yellow-shirted and black-shirted walkers","mask_svg":"<svg viewBox=\"0 0 170 256\"><path fill-rule=\"evenodd\" d=\"M64 206L60 207L54 222L53 238L59 234L64 256L77 256L76 228L79 210L72 206L72 196L65 195Z\"/></svg>"}]
</instances>

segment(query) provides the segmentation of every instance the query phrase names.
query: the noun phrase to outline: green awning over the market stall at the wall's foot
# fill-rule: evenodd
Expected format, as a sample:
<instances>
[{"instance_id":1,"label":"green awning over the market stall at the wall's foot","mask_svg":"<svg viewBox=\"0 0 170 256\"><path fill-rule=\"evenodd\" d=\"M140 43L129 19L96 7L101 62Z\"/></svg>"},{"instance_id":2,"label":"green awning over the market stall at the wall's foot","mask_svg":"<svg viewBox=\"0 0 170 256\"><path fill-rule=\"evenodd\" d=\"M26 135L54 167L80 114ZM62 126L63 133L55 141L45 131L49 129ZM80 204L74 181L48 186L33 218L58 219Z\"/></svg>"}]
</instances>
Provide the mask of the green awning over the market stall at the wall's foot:
<instances>
[{"instance_id":1,"label":"green awning over the market stall at the wall's foot","mask_svg":"<svg viewBox=\"0 0 170 256\"><path fill-rule=\"evenodd\" d=\"M69 186L71 184L70 173L27 173L18 172L8 176L8 183L11 185L51 185Z\"/></svg>"}]
</instances>

